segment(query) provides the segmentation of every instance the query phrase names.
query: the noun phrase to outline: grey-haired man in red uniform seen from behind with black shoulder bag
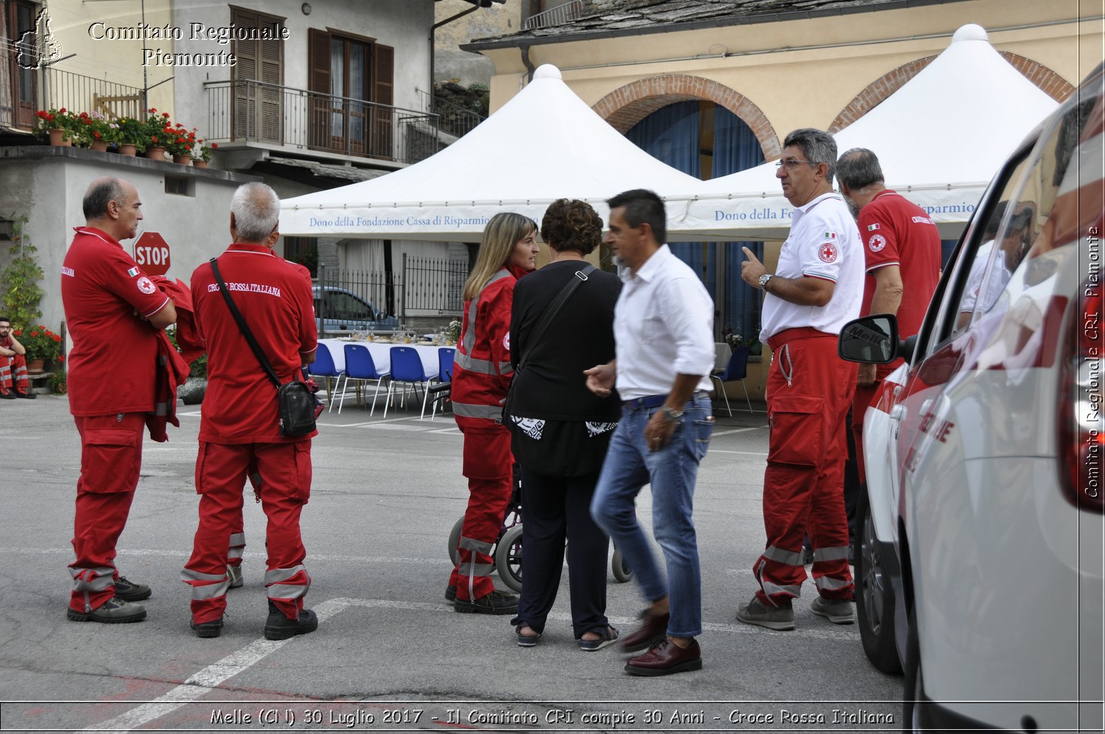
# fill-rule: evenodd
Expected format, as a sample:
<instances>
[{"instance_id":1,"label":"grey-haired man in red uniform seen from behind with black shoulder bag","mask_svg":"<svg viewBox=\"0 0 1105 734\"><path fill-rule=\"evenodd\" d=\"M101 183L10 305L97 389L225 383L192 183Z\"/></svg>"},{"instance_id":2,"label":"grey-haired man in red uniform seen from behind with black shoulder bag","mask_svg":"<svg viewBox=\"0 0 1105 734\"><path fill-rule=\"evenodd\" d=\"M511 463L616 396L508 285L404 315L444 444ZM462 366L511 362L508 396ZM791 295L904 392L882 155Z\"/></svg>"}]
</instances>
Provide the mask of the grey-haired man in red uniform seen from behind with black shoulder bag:
<instances>
[{"instance_id":1,"label":"grey-haired man in red uniform seen from behind with black shoulder bag","mask_svg":"<svg viewBox=\"0 0 1105 734\"><path fill-rule=\"evenodd\" d=\"M299 379L315 359L311 286L266 247L278 226L280 199L263 184L239 187L231 202L233 240L219 270L234 304L282 382ZM311 439L281 436L276 389L250 349L219 290L210 263L192 273L196 326L208 345L208 387L200 419L196 492L199 528L181 579L192 587L191 627L219 637L227 609L227 549L241 524L246 474L261 475L261 504L269 518L265 638L283 640L318 627L303 608L311 576L299 514L311 496Z\"/></svg>"}]
</instances>

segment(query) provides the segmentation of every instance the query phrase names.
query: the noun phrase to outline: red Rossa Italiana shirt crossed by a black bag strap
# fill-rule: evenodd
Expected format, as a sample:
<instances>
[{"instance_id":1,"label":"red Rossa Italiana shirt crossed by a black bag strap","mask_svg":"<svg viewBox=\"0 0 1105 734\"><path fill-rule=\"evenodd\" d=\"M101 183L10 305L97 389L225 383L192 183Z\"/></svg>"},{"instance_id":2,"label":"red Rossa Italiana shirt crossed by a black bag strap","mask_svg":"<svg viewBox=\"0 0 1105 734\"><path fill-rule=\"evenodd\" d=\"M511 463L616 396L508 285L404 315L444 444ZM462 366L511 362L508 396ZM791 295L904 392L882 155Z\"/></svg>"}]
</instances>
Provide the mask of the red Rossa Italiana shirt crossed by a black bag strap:
<instances>
[{"instance_id":1,"label":"red Rossa Italiana shirt crossed by a black bag strap","mask_svg":"<svg viewBox=\"0 0 1105 734\"><path fill-rule=\"evenodd\" d=\"M299 353L318 346L311 285L301 272L252 244L230 245L219 256L219 272L281 382L298 376ZM209 263L192 273L192 304L208 347L200 441L277 443L314 436L281 437L276 387L238 328Z\"/></svg>"}]
</instances>

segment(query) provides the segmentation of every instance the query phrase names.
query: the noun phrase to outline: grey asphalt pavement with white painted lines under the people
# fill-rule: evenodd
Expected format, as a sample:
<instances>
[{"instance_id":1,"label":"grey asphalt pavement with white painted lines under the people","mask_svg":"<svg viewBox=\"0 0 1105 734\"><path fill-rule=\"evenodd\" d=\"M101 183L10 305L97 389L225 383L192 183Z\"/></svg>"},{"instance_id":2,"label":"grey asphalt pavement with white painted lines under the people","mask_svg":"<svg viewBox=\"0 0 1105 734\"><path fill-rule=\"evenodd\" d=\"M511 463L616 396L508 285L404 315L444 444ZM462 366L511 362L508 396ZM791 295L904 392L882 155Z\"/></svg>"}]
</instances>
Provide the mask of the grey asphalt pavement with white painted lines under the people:
<instances>
[{"instance_id":1,"label":"grey asphalt pavement with white painted lines under the people","mask_svg":"<svg viewBox=\"0 0 1105 734\"><path fill-rule=\"evenodd\" d=\"M796 602L798 629L737 622L764 547L762 413L718 417L695 493L702 558L701 671L636 678L617 647L572 640L567 574L530 649L509 617L460 615L444 601L446 538L463 514L461 433L451 416L346 400L319 419L312 499L303 513L308 607L318 630L263 638L264 516L246 495L245 586L229 595L222 636L188 627L198 497L199 409L180 408L168 443L144 445L141 481L118 544L120 572L149 584L148 619L66 620L80 442L64 397L0 405L4 618L2 731L853 731L902 726L902 679L876 671L856 626ZM645 487L639 517L651 522ZM659 553L659 548L657 548ZM567 569L566 569L567 570ZM497 581L501 586L502 583ZM622 633L644 606L609 577Z\"/></svg>"}]
</instances>

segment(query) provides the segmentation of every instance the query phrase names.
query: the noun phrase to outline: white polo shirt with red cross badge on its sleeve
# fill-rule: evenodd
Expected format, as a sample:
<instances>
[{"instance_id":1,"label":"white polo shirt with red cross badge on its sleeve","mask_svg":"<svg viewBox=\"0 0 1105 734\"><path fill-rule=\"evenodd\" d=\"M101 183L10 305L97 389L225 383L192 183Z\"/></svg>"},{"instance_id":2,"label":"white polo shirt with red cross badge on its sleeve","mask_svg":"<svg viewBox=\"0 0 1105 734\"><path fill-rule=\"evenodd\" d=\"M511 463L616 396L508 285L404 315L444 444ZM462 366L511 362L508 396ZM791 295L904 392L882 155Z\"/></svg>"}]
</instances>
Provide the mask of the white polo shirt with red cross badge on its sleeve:
<instances>
[{"instance_id":1,"label":"white polo shirt with red cross badge on its sleeve","mask_svg":"<svg viewBox=\"0 0 1105 734\"><path fill-rule=\"evenodd\" d=\"M864 254L860 230L844 199L833 191L794 208L790 235L779 252L776 275L820 277L836 284L823 306L800 306L764 296L760 342L788 328L809 326L827 334L860 315L863 302Z\"/></svg>"}]
</instances>

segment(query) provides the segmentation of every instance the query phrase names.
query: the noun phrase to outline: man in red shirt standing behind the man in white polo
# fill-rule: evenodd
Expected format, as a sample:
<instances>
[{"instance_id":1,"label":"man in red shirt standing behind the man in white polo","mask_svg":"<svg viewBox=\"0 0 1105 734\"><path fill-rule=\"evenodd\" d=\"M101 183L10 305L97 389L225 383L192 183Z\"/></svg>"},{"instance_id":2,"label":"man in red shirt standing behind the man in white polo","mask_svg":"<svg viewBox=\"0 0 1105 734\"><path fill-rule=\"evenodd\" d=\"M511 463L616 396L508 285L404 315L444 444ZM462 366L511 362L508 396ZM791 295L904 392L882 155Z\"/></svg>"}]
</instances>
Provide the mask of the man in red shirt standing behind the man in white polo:
<instances>
[{"instance_id":1,"label":"man in red shirt standing behind the man in white polo","mask_svg":"<svg viewBox=\"0 0 1105 734\"><path fill-rule=\"evenodd\" d=\"M860 210L860 239L866 259L867 276L863 285L861 316L895 314L898 334L912 336L920 331L928 302L940 279L940 234L924 209L883 182L878 158L865 148L852 148L836 162L840 191ZM855 396L852 399L852 430L855 433L855 461L862 486L863 416L878 384L902 360L891 365L860 365ZM848 496L852 494L853 496ZM854 492L846 492L849 524L855 516Z\"/></svg>"}]
</instances>

